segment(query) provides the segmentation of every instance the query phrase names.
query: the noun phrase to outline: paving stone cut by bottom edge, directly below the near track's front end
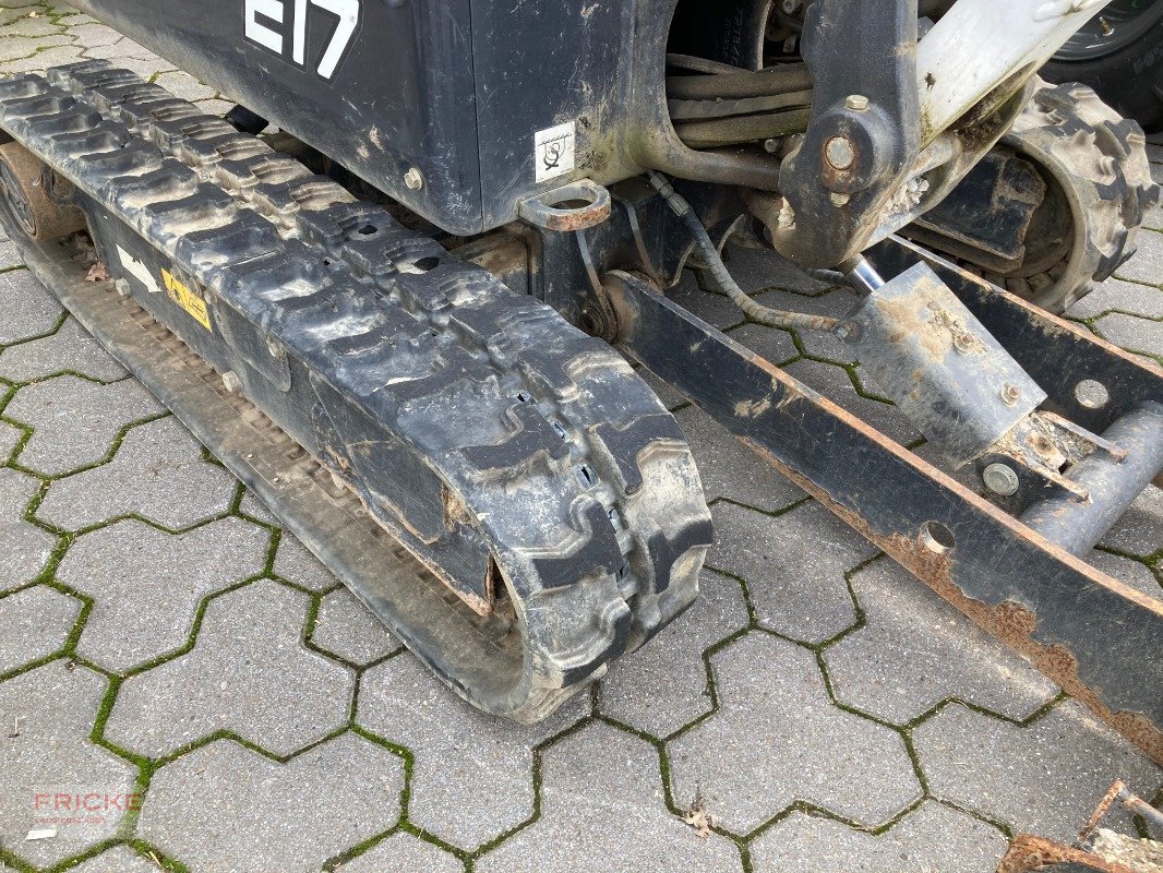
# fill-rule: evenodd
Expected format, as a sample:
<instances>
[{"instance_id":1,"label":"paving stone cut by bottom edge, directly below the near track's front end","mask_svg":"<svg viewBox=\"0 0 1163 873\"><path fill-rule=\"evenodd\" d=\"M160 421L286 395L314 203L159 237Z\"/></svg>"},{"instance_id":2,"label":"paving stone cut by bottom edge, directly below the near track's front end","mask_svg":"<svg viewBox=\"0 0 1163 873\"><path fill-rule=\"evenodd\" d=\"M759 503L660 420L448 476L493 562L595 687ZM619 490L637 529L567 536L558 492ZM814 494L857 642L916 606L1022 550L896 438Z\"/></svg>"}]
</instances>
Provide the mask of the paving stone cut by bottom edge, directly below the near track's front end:
<instances>
[{"instance_id":1,"label":"paving stone cut by bottom edge, directly below the near track's front end","mask_svg":"<svg viewBox=\"0 0 1163 873\"><path fill-rule=\"evenodd\" d=\"M616 766L611 766L616 762ZM590 724L547 750L541 818L478 860L480 873L727 873L739 849L699 837L666 809L658 753L644 740Z\"/></svg>"}]
</instances>

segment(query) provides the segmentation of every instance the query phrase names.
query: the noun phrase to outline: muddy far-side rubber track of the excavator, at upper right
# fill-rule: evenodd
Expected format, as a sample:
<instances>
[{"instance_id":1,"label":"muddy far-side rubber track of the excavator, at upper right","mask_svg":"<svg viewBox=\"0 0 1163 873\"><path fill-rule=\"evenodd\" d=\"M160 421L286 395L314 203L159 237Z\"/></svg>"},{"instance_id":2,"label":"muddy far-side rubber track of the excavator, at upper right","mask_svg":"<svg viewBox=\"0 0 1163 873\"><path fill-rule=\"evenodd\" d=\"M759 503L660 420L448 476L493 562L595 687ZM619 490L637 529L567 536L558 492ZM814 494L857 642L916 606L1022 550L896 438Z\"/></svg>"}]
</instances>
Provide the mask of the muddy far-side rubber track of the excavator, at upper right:
<instances>
[{"instance_id":1,"label":"muddy far-side rubber track of the excavator, at upper right","mask_svg":"<svg viewBox=\"0 0 1163 873\"><path fill-rule=\"evenodd\" d=\"M1076 234L1066 257L1042 274L986 278L1051 312L1065 312L1135 254L1139 228L1160 198L1147 137L1085 85L1042 83L1001 142L1065 190Z\"/></svg>"}]
</instances>

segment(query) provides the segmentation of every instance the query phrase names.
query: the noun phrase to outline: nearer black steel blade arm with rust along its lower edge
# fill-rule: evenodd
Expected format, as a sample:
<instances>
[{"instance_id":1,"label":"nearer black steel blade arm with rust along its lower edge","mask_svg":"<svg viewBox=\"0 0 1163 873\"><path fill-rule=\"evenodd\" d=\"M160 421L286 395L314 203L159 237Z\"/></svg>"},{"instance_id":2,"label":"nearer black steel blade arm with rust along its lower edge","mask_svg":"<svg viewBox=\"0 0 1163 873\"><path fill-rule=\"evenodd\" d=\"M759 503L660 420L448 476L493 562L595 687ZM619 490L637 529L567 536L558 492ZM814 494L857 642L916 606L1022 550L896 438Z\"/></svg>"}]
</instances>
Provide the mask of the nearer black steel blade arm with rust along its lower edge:
<instances>
[{"instance_id":1,"label":"nearer black steel blade arm with rust along its lower edge","mask_svg":"<svg viewBox=\"0 0 1163 873\"><path fill-rule=\"evenodd\" d=\"M1163 603L1053 545L643 283L622 275L619 284L635 315L628 354L1163 761L1163 663L1144 656L1163 640Z\"/></svg>"}]
</instances>

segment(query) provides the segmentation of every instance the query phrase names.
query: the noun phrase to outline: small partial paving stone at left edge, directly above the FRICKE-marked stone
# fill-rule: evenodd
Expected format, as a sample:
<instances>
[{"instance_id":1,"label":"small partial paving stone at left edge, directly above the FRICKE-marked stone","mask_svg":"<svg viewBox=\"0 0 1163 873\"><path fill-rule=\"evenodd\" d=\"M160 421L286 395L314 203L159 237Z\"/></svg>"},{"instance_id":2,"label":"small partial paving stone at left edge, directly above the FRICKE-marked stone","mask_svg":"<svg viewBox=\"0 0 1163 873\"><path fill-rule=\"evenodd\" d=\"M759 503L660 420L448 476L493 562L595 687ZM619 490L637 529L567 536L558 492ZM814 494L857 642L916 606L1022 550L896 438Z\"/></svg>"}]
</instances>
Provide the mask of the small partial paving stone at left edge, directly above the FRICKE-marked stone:
<instances>
[{"instance_id":1,"label":"small partial paving stone at left edge, directly above the FRICKE-marked stone","mask_svg":"<svg viewBox=\"0 0 1163 873\"><path fill-rule=\"evenodd\" d=\"M72 633L81 603L48 585L0 598L0 674L50 655Z\"/></svg>"}]
</instances>

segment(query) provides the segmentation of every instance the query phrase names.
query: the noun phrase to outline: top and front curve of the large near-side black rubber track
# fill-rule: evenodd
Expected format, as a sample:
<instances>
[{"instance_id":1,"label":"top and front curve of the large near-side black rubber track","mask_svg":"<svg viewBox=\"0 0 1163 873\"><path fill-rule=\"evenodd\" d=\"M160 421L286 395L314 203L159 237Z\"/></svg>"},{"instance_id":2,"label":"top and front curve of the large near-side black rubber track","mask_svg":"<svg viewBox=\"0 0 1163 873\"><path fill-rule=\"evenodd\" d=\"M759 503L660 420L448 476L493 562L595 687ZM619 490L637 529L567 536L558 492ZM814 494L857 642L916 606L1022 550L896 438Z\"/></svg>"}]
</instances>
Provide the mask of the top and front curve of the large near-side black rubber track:
<instances>
[{"instance_id":1,"label":"top and front curve of the large near-side black rubber track","mask_svg":"<svg viewBox=\"0 0 1163 873\"><path fill-rule=\"evenodd\" d=\"M513 676L500 675L501 661L495 676L487 665L457 675L438 651L418 651L470 702L542 718L693 601L711 541L693 459L605 343L106 62L0 83L0 126L215 305L261 325L309 369L319 407L338 409L336 396L356 403L445 483L457 519L491 545L523 637ZM319 460L436 563L424 538L383 509L358 457L338 454Z\"/></svg>"}]
</instances>

